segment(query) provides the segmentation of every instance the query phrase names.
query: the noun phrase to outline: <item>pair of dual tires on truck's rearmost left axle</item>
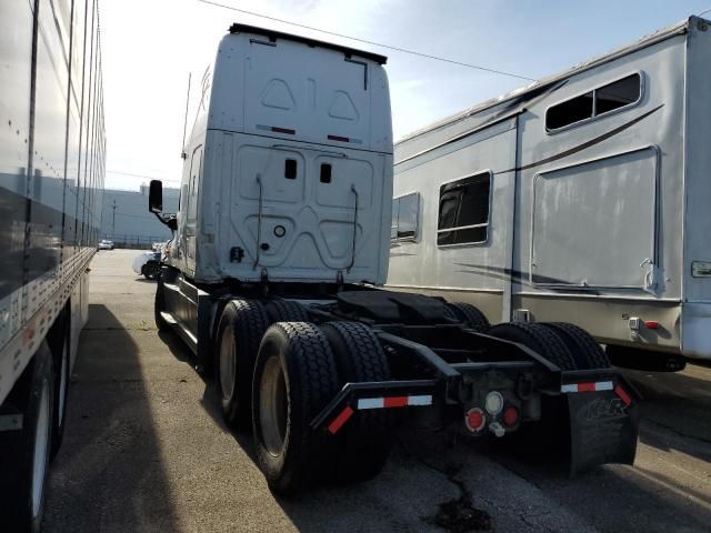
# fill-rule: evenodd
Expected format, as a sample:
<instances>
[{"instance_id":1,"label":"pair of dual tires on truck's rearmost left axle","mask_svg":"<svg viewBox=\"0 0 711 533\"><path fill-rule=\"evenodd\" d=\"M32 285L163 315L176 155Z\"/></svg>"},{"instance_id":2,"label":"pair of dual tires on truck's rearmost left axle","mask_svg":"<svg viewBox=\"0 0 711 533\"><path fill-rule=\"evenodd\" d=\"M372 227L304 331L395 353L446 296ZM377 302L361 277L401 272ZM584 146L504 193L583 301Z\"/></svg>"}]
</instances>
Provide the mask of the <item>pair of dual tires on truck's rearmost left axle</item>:
<instances>
[{"instance_id":1,"label":"pair of dual tires on truck's rearmost left axle","mask_svg":"<svg viewBox=\"0 0 711 533\"><path fill-rule=\"evenodd\" d=\"M348 382L385 381L390 370L372 331L356 322L279 322L267 330L254 368L252 423L257 462L272 491L377 475L392 443L388 410L357 413L337 435L311 421Z\"/></svg>"}]
</instances>

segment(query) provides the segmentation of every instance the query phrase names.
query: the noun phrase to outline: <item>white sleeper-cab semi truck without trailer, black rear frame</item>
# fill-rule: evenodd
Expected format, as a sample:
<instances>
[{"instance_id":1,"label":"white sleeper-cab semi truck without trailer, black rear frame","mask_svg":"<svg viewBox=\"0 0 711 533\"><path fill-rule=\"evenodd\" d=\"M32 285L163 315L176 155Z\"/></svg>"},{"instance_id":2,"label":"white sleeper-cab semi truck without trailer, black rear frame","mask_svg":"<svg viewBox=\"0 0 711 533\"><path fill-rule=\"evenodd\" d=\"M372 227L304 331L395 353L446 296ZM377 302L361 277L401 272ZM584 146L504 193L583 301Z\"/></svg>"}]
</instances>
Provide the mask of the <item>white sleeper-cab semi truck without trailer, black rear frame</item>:
<instances>
[{"instance_id":1,"label":"white sleeper-cab semi truck without trailer, black rear frame","mask_svg":"<svg viewBox=\"0 0 711 533\"><path fill-rule=\"evenodd\" d=\"M234 24L203 78L156 292L272 490L372 477L393 409L425 426L568 449L573 472L631 463L637 400L568 324L489 329L474 308L379 289L392 133L385 58ZM558 409L558 408L563 409ZM563 430L563 431L557 431ZM525 435L525 432L520 433Z\"/></svg>"}]
</instances>

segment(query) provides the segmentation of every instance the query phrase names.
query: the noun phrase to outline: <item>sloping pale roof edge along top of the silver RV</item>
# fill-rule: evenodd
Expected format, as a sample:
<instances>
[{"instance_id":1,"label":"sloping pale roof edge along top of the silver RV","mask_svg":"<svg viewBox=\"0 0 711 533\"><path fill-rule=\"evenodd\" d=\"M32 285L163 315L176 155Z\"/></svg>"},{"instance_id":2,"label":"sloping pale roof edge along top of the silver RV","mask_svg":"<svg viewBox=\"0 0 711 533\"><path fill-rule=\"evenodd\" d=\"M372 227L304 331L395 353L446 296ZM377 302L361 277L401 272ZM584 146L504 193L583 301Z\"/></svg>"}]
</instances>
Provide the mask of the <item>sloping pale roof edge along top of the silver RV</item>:
<instances>
[{"instance_id":1,"label":"sloping pale roof edge along top of the silver RV","mask_svg":"<svg viewBox=\"0 0 711 533\"><path fill-rule=\"evenodd\" d=\"M595 67L599 67L601 64L604 64L609 61L612 61L617 58L619 58L620 56L624 56L627 53L630 53L634 50L640 50L642 48L647 48L647 47L651 47L652 44L655 44L660 41L670 39L674 36L678 36L680 33L685 33L689 29L689 27L693 23L693 21L695 20L705 20L702 19L700 17L695 17L695 16L691 16L684 20L682 20L681 22L678 22L673 26L670 26L668 28L663 28L661 30L655 31L654 33L651 33L649 36L644 36L641 39L638 39L637 41L627 44L624 47L621 48L617 48L610 52L607 52L602 56L598 56L595 58L589 59L588 61L583 61L582 63L575 64L574 67L571 67L568 70L561 71L557 74L552 74L549 76L548 78L543 78L541 80L534 81L532 83L529 83L528 86L524 87L520 87L518 89L514 89L510 92L503 93L499 97L492 98L490 100L487 100L484 102L478 103L471 108L468 108L463 111L460 111L458 113L451 114L449 117L445 117L444 119L438 120L437 122L433 122L431 124L425 125L424 128L421 128L419 130L414 130L408 134L405 134L402 139L399 139L398 141L395 141L394 145L397 147L398 144L401 144L405 141L409 141L411 139L414 139L417 137L423 135L425 133L429 133L431 131L434 131L439 128L444 128L447 125L453 124L454 122L458 122L460 120L463 120L468 117L471 117L473 114L480 113L487 109L490 108L494 108L501 103L508 102L510 100L513 100L514 98L520 98L525 95L527 93L534 91L537 89L540 89L541 87L547 87L550 86L551 83L555 83L560 80L563 80L565 78L571 77L572 74L575 74L578 72L584 72L585 70L590 70L593 69ZM711 24L711 21L709 22Z\"/></svg>"}]
</instances>

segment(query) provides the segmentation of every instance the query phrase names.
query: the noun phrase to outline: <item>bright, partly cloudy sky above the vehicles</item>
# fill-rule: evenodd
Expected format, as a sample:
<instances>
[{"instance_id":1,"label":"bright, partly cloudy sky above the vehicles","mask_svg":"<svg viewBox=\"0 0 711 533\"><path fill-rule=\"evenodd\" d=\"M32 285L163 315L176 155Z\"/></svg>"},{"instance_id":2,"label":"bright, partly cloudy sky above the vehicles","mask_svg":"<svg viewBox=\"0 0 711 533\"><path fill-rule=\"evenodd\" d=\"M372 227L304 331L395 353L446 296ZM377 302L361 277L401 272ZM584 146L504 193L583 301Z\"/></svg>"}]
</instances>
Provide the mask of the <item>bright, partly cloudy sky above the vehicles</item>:
<instances>
[{"instance_id":1,"label":"bright, partly cloudy sky above the vehicles","mask_svg":"<svg viewBox=\"0 0 711 533\"><path fill-rule=\"evenodd\" d=\"M533 79L711 9L711 0L214 1ZM388 56L395 140L527 84L524 80L324 36L199 0L101 0L108 188L138 190L151 178L178 184L188 74L193 72L193 81L201 77L232 22Z\"/></svg>"}]
</instances>

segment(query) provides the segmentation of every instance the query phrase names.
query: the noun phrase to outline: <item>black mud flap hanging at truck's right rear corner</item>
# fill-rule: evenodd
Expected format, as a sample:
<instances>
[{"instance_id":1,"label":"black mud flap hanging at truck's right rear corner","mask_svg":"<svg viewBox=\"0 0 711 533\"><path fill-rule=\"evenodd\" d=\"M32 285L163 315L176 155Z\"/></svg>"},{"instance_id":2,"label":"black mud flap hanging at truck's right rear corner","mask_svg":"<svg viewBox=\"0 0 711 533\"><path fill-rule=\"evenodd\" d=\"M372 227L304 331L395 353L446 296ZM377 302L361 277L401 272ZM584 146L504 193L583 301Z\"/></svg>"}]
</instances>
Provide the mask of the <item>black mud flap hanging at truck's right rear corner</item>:
<instances>
[{"instance_id":1,"label":"black mud flap hanging at truck's right rear corner","mask_svg":"<svg viewBox=\"0 0 711 533\"><path fill-rule=\"evenodd\" d=\"M608 463L632 464L639 410L619 385L610 391L565 394L570 416L570 475Z\"/></svg>"}]
</instances>

